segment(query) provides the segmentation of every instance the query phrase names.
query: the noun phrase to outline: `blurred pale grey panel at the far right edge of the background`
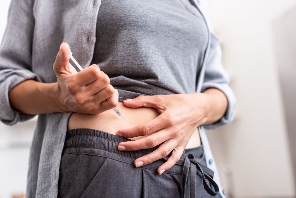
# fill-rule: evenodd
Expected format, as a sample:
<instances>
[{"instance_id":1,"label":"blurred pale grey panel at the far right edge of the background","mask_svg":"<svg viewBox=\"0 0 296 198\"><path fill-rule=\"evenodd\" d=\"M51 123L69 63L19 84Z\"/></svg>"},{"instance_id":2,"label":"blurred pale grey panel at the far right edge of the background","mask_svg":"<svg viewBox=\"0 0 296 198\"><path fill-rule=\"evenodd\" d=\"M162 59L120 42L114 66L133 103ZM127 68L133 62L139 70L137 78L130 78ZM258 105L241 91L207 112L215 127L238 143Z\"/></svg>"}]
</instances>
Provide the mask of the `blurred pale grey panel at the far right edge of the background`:
<instances>
[{"instance_id":1,"label":"blurred pale grey panel at the far right edge of the background","mask_svg":"<svg viewBox=\"0 0 296 198\"><path fill-rule=\"evenodd\" d=\"M296 4L274 25L276 59L283 93L287 132L290 143L294 181L296 180Z\"/></svg>"}]
</instances>

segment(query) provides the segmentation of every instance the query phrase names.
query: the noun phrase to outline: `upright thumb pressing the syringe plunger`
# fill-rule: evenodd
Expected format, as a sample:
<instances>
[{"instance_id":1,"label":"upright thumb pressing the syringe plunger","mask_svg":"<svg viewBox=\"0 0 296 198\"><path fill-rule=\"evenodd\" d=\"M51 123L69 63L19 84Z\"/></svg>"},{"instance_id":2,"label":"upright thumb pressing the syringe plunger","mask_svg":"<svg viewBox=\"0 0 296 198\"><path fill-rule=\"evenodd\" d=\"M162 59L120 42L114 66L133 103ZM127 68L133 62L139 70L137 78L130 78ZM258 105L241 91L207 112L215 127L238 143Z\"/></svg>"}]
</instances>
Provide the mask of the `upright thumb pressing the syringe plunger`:
<instances>
[{"instance_id":1,"label":"upright thumb pressing the syringe plunger","mask_svg":"<svg viewBox=\"0 0 296 198\"><path fill-rule=\"evenodd\" d=\"M62 43L60 45L59 52L57 53L57 58L53 66L55 74L73 75L77 73L75 68L69 63L70 58L67 57L70 52L71 49L67 43Z\"/></svg>"}]
</instances>

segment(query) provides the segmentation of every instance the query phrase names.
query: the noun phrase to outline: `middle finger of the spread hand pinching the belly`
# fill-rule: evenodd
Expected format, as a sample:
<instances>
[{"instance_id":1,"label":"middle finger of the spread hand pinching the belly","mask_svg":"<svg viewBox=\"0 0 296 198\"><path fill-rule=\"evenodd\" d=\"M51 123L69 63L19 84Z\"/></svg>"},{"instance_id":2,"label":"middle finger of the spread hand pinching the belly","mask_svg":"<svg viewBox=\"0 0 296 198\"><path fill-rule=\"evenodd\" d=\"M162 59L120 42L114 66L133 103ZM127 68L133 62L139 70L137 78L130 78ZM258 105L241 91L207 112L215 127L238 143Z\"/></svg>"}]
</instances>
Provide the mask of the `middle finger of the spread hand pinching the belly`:
<instances>
[{"instance_id":1,"label":"middle finger of the spread hand pinching the belly","mask_svg":"<svg viewBox=\"0 0 296 198\"><path fill-rule=\"evenodd\" d=\"M145 138L141 138L135 141L120 142L118 144L119 151L136 151L140 149L153 148L165 140L168 140L168 130L160 130Z\"/></svg>"}]
</instances>

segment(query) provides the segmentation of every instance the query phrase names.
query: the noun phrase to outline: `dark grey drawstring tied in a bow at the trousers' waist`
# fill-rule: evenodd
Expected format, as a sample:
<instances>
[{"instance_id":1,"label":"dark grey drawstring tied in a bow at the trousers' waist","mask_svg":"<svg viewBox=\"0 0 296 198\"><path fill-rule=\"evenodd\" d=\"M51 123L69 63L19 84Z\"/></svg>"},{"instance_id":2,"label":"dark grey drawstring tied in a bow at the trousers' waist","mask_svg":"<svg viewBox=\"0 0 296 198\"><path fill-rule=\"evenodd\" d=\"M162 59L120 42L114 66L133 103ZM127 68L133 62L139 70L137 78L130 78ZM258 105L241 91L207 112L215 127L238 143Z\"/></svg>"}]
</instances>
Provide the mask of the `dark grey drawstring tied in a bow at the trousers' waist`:
<instances>
[{"instance_id":1,"label":"dark grey drawstring tied in a bow at the trousers' waist","mask_svg":"<svg viewBox=\"0 0 296 198\"><path fill-rule=\"evenodd\" d=\"M200 158L194 158L194 155L189 153L184 161L184 168L182 173L182 182L183 182L183 198L185 197L185 191L186 191L186 183L187 183L187 177L190 170L190 197L195 198L196 197L196 175L197 170L200 171L202 175L202 181L205 190L208 194L215 196L219 193L219 187L217 183L213 180L214 172L209 169L206 166L203 166L200 164L200 162L203 160L204 155L202 154L202 157ZM207 183L206 179L210 182L210 184L214 187L215 191L210 187L210 185Z\"/></svg>"}]
</instances>

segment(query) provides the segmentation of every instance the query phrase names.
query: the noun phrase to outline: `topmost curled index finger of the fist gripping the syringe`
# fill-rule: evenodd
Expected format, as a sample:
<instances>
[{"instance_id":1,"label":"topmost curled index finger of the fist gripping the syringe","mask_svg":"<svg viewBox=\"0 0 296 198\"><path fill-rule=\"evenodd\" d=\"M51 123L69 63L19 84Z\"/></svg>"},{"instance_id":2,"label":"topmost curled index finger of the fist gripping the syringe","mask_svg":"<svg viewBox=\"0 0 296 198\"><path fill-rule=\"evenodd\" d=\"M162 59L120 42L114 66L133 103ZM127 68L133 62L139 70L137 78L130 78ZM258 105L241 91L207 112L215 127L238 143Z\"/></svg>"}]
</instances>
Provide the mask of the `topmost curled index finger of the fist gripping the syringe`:
<instances>
[{"instance_id":1,"label":"topmost curled index finger of the fist gripping the syringe","mask_svg":"<svg viewBox=\"0 0 296 198\"><path fill-rule=\"evenodd\" d=\"M95 80L101 78L102 71L96 64L93 64L91 66L88 66L83 71L79 72L75 75L76 82L81 86L86 86L87 84L90 84L94 82ZM104 78L107 76L104 73ZM108 76L107 76L108 77ZM109 77L108 77L109 79ZM110 79L109 79L110 80Z\"/></svg>"}]
</instances>

